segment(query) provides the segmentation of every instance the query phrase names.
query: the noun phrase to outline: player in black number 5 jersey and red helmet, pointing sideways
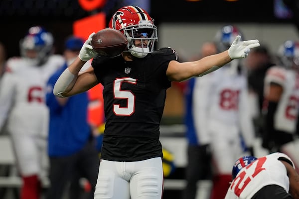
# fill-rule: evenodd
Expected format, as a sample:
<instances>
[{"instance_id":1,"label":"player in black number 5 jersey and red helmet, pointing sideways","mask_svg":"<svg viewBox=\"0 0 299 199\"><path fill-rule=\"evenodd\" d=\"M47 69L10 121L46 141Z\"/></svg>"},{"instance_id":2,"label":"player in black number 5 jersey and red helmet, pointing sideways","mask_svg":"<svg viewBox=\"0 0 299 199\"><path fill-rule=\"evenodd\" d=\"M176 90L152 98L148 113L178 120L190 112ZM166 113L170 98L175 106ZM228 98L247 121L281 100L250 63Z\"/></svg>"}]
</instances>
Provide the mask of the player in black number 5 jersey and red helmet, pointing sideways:
<instances>
[{"instance_id":1,"label":"player in black number 5 jersey and red helmet, pointing sideways","mask_svg":"<svg viewBox=\"0 0 299 199\"><path fill-rule=\"evenodd\" d=\"M92 49L92 33L78 58L61 74L54 94L68 97L104 86L106 126L95 199L161 199L162 147L159 124L166 89L212 72L233 59L245 58L258 40L240 42L230 49L195 62L180 63L171 48L153 50L156 26L142 8L124 6L112 16L109 28L124 33L127 50L120 56L100 57ZM79 74L90 59L92 66ZM84 118L82 118L84 120Z\"/></svg>"}]
</instances>

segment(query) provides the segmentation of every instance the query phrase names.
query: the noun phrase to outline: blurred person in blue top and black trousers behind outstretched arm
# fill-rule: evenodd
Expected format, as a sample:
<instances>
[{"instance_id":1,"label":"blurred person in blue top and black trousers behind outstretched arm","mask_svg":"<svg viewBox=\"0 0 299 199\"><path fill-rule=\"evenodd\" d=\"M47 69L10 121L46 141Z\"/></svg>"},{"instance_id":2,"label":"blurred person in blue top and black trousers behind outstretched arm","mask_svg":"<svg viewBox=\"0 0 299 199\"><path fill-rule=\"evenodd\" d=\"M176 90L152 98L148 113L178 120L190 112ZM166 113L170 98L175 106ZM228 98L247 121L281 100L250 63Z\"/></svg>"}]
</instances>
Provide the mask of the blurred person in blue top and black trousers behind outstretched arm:
<instances>
[{"instance_id":1,"label":"blurred person in blue top and black trousers behind outstretched arm","mask_svg":"<svg viewBox=\"0 0 299 199\"><path fill-rule=\"evenodd\" d=\"M200 58L213 55L217 53L217 47L214 42L206 42L202 45L200 51ZM195 57L194 60L197 60ZM187 161L185 168L185 180L187 182L186 188L183 192L182 199L196 199L196 191L199 180L212 179L211 170L211 151L209 142L203 142L198 134L198 114L196 109L199 99L194 98L198 87L195 87L195 78L189 79L185 83L185 125L186 138L188 140Z\"/></svg>"}]
</instances>

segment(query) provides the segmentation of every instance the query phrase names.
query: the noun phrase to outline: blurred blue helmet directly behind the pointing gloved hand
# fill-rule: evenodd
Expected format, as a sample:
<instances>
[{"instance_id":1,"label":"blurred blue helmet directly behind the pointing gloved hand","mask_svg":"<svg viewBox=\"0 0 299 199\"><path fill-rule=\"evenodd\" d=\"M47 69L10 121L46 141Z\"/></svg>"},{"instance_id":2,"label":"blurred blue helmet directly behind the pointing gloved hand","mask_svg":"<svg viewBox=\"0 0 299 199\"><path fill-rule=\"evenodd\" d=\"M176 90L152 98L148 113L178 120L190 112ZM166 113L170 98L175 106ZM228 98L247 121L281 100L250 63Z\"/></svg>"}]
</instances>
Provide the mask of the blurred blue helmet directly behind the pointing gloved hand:
<instances>
[{"instance_id":1,"label":"blurred blue helmet directly behind the pointing gloved hand","mask_svg":"<svg viewBox=\"0 0 299 199\"><path fill-rule=\"evenodd\" d=\"M241 40L244 40L243 34L237 26L234 25L225 25L223 26L215 36L215 43L219 52L226 51L229 49L236 36L240 35Z\"/></svg>"}]
</instances>

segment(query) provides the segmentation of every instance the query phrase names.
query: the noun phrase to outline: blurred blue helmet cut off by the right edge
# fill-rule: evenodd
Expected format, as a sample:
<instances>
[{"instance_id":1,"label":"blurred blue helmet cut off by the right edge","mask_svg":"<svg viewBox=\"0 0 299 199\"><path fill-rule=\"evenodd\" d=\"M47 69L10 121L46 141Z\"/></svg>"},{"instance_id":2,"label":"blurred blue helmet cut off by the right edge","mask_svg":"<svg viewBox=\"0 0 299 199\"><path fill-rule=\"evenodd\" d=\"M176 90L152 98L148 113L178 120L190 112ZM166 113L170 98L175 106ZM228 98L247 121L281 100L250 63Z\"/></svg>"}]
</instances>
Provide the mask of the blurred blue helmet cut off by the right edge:
<instances>
[{"instance_id":1,"label":"blurred blue helmet cut off by the right edge","mask_svg":"<svg viewBox=\"0 0 299 199\"><path fill-rule=\"evenodd\" d=\"M283 66L291 68L299 66L299 42L285 41L278 50L278 56Z\"/></svg>"}]
</instances>

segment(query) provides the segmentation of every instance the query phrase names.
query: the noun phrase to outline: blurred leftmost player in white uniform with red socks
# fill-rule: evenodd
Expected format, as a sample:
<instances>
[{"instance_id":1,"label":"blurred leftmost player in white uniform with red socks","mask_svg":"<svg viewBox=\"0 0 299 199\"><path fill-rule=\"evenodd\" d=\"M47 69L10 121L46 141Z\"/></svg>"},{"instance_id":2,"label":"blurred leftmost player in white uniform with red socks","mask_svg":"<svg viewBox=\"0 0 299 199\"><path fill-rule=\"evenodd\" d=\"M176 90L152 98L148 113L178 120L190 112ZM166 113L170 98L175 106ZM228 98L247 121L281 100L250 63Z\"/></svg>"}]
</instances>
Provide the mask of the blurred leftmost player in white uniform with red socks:
<instances>
[{"instance_id":1,"label":"blurred leftmost player in white uniform with red socks","mask_svg":"<svg viewBox=\"0 0 299 199\"><path fill-rule=\"evenodd\" d=\"M22 177L20 199L39 199L40 180L47 172L49 112L45 88L49 76L64 59L53 53L52 34L29 28L20 40L21 57L7 61L0 89L0 128L7 119L18 172Z\"/></svg>"}]
</instances>

